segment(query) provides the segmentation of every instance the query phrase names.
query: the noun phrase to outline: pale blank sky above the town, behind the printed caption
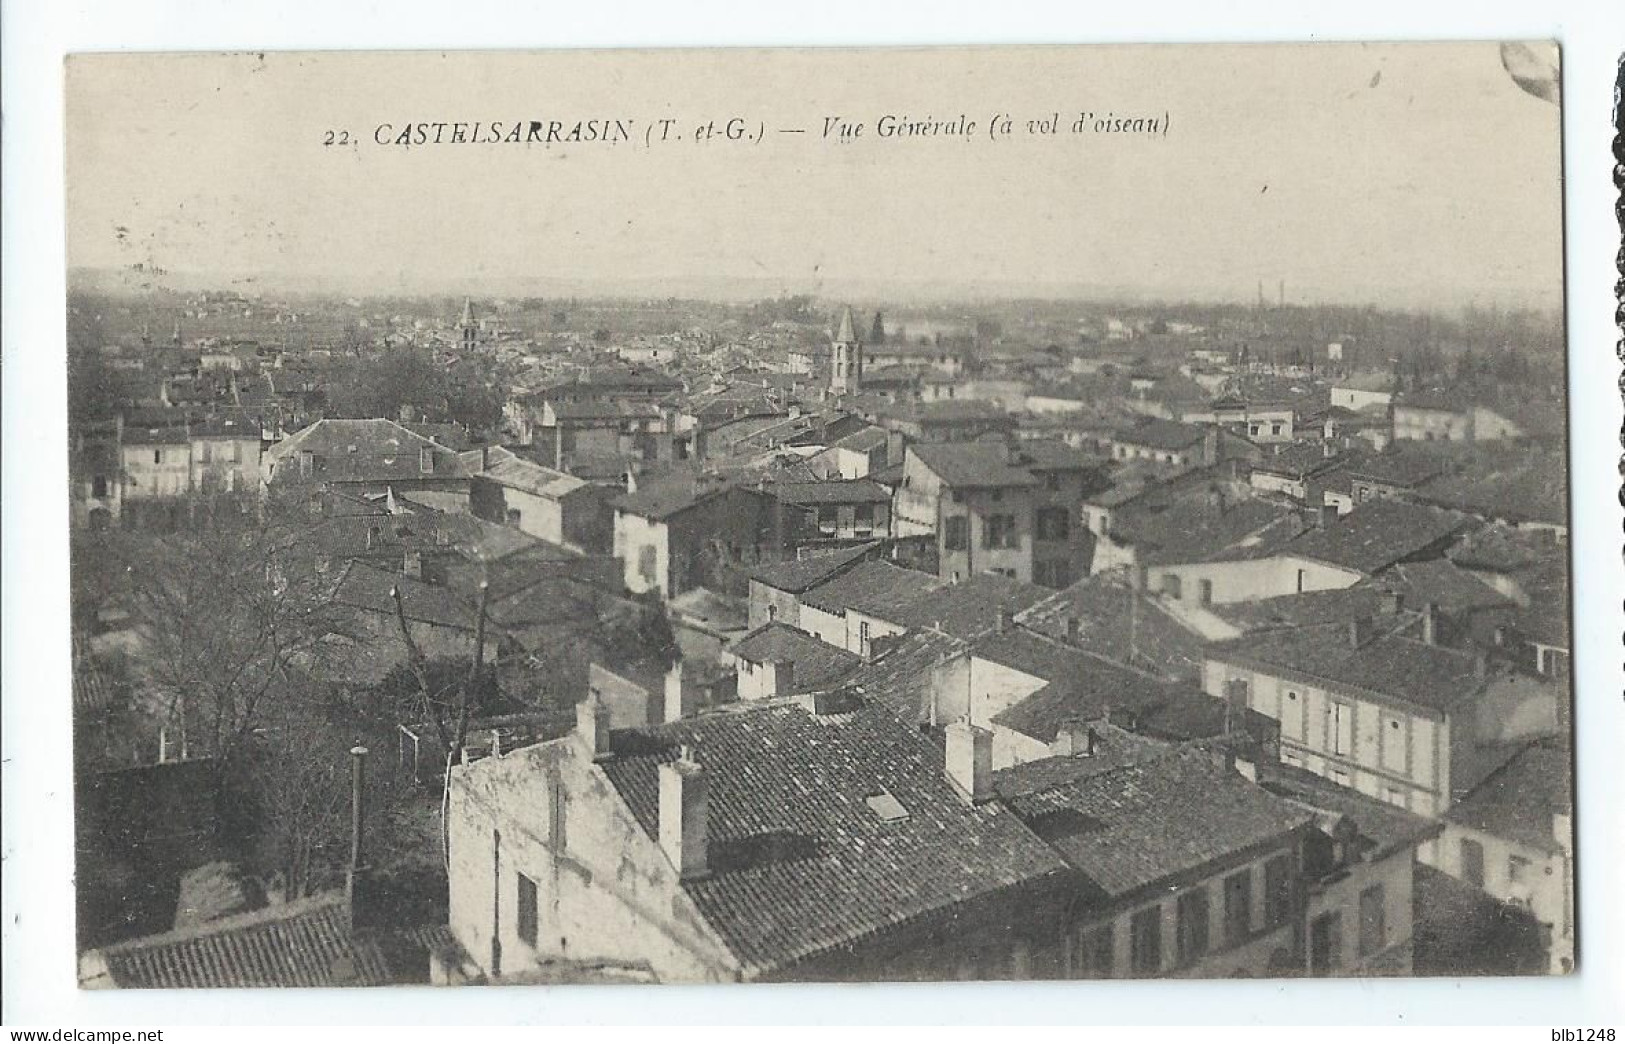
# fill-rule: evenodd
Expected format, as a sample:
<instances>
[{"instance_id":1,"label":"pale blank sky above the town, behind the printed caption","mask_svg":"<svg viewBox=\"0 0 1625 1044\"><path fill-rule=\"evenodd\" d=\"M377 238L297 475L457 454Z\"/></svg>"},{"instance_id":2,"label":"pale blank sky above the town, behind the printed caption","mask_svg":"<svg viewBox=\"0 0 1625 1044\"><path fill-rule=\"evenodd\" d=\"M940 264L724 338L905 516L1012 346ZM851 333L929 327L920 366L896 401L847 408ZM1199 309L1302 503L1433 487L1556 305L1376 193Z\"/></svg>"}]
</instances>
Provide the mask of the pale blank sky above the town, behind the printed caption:
<instances>
[{"instance_id":1,"label":"pale blank sky above the town, behind the printed caption","mask_svg":"<svg viewBox=\"0 0 1625 1044\"><path fill-rule=\"evenodd\" d=\"M1562 304L1560 114L1497 44L81 55L67 85L70 267L346 293L1251 301L1284 281L1289 302ZM1068 133L1084 111L1167 133ZM1051 112L1063 133L1025 133ZM886 114L977 132L879 138ZM1016 133L990 140L994 114ZM830 115L864 137L826 140ZM694 140L730 117L762 140ZM375 143L587 119L634 140ZM661 119L682 140L645 146Z\"/></svg>"}]
</instances>

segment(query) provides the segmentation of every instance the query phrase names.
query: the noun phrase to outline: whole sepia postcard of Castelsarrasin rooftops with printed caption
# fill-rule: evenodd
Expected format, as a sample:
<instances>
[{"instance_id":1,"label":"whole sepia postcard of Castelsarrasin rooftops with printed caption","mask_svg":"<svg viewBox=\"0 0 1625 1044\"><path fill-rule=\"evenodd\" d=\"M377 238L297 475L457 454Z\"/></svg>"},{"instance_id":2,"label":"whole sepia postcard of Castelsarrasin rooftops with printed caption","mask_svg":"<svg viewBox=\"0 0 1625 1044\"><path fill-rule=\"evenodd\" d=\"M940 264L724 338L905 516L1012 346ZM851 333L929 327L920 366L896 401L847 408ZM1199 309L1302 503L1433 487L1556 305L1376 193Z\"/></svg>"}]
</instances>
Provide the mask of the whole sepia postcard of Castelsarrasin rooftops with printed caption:
<instances>
[{"instance_id":1,"label":"whole sepia postcard of Castelsarrasin rooftops with printed caption","mask_svg":"<svg viewBox=\"0 0 1625 1044\"><path fill-rule=\"evenodd\" d=\"M70 55L78 985L1575 972L1560 83Z\"/></svg>"}]
</instances>

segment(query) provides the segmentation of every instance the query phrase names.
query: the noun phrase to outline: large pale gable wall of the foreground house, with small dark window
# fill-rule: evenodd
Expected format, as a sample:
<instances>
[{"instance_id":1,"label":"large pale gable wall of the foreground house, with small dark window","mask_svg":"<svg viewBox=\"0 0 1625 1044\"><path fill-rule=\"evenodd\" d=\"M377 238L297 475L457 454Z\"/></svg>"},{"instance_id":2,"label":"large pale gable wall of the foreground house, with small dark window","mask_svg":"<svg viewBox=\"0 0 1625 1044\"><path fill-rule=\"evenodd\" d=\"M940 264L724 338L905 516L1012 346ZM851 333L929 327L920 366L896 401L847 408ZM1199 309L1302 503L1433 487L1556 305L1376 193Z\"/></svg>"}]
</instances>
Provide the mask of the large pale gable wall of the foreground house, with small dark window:
<instances>
[{"instance_id":1,"label":"large pale gable wall of the foreground house, with small dark window","mask_svg":"<svg viewBox=\"0 0 1625 1044\"><path fill-rule=\"evenodd\" d=\"M496 937L504 976L562 958L648 963L661 982L736 977L577 737L453 768L447 823L452 933L486 974ZM535 946L517 930L518 873L536 883Z\"/></svg>"}]
</instances>

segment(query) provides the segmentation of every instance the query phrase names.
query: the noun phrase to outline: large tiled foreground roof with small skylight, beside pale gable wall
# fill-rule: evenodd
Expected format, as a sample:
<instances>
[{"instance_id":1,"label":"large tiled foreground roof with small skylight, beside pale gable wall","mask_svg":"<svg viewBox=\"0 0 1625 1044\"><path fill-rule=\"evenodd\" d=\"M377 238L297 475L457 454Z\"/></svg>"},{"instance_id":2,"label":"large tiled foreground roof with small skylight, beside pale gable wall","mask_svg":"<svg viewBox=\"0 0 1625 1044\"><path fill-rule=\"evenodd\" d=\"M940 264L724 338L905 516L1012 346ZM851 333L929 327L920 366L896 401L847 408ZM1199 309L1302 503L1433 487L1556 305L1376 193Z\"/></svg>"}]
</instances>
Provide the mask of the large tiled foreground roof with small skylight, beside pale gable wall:
<instances>
[{"instance_id":1,"label":"large tiled foreground roof with small skylight, beside pale gable wall","mask_svg":"<svg viewBox=\"0 0 1625 1044\"><path fill-rule=\"evenodd\" d=\"M941 750L873 701L834 717L769 701L614 733L603 771L652 837L658 766L682 743L710 772L712 870L682 888L748 976L1064 873L1008 810L968 805ZM908 815L881 820L864 800L879 792Z\"/></svg>"}]
</instances>

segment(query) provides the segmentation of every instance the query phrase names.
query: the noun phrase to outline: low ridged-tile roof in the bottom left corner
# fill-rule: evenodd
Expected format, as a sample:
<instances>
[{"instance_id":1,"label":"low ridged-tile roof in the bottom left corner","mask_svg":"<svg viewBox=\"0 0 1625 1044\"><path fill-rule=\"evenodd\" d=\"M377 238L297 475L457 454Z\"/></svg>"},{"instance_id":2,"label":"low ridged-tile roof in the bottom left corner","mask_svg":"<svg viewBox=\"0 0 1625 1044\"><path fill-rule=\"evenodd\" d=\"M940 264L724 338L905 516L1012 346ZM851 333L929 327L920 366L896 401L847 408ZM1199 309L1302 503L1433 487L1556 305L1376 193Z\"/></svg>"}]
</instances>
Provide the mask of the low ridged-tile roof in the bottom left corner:
<instances>
[{"instance_id":1,"label":"low ridged-tile roof in the bottom left corner","mask_svg":"<svg viewBox=\"0 0 1625 1044\"><path fill-rule=\"evenodd\" d=\"M341 894L268 906L96 951L125 989L388 985L429 981L445 925L353 930Z\"/></svg>"}]
</instances>

